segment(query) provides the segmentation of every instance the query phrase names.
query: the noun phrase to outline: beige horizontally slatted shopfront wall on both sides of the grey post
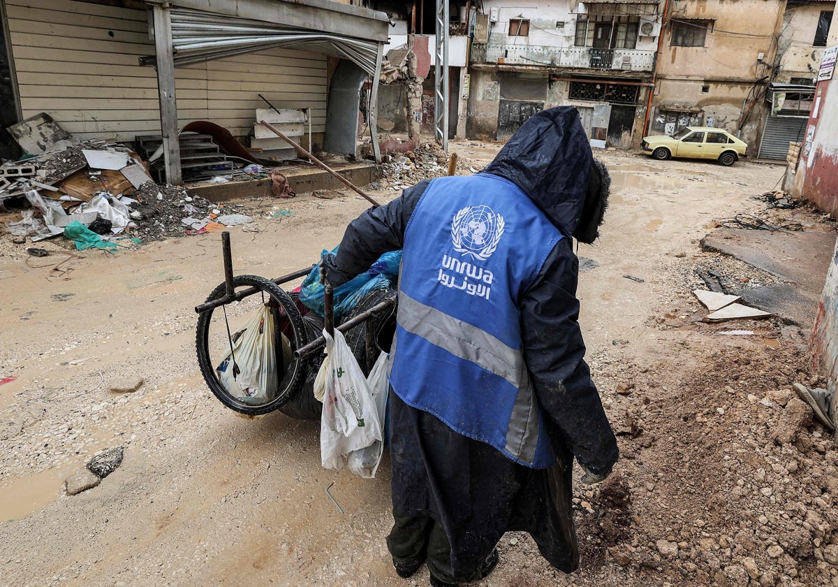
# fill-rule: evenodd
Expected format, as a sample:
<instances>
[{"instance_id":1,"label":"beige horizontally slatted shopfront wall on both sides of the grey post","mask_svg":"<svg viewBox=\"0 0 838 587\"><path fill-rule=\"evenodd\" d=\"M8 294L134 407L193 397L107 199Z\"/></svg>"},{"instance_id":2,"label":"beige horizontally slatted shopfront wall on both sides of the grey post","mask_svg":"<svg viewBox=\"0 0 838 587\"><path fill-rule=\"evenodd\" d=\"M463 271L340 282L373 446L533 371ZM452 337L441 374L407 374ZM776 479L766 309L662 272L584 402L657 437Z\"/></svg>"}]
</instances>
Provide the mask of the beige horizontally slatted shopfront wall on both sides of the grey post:
<instances>
[{"instance_id":1,"label":"beige horizontally slatted shopfront wall on both sides of the grey post","mask_svg":"<svg viewBox=\"0 0 838 587\"><path fill-rule=\"evenodd\" d=\"M80 139L160 133L157 75L138 64L154 55L145 11L73 0L5 2L23 117L47 112ZM244 137L256 108L265 107L261 92L277 107L311 107L313 132L324 131L324 55L270 49L178 68L175 78L181 126L210 120Z\"/></svg>"}]
</instances>

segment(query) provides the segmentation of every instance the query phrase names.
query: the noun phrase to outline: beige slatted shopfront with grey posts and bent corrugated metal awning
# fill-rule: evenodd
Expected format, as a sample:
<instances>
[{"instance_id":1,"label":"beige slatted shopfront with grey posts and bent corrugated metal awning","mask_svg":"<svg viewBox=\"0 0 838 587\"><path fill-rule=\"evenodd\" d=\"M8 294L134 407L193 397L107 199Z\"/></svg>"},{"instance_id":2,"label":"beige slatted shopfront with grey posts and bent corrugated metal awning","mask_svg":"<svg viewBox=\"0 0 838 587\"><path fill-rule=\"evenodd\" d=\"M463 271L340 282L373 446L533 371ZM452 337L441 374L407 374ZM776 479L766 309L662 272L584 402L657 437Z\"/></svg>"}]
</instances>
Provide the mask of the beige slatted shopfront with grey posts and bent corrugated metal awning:
<instances>
[{"instance_id":1,"label":"beige slatted shopfront with grey posts and bent corrugated metal awning","mask_svg":"<svg viewBox=\"0 0 838 587\"><path fill-rule=\"evenodd\" d=\"M260 155L297 157L255 127L257 112L269 109L261 95L290 112L274 122L305 148L354 157L369 129L377 152L375 101L367 107L360 96L362 86L378 86L388 29L382 13L331 0L3 0L0 7L0 65L8 68L0 86L11 96L3 122L46 112L78 141L157 138L165 175L178 183L202 156L178 133L189 122L213 122ZM6 158L19 154L5 144Z\"/></svg>"}]
</instances>

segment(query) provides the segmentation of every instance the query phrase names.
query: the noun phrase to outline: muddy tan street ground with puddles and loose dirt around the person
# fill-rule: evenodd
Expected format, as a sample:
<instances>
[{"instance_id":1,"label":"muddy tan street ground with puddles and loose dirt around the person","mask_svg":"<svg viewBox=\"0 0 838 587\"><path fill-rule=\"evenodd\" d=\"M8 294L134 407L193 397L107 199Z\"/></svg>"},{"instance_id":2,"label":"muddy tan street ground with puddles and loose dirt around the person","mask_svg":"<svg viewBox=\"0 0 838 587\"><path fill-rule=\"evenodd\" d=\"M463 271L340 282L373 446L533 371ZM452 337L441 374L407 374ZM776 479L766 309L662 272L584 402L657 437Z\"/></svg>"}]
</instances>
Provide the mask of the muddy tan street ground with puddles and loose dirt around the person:
<instances>
[{"instance_id":1,"label":"muddy tan street ground with puddles and loose dirt around the person","mask_svg":"<svg viewBox=\"0 0 838 587\"><path fill-rule=\"evenodd\" d=\"M453 148L470 173L498 147ZM696 268L742 287L777 280L701 251L722 218L834 227L753 199L780 166L603 158L613 197L601 239L579 247L580 322L622 458L603 486L577 486L577 573L515 533L480 584L838 585L838 450L790 391L817 383L809 332L707 325L690 294ZM374 193L390 200L423 173L401 169ZM241 204L259 231L232 229L236 273L266 277L316 260L367 205L351 192ZM219 234L116 255L47 242L44 258L0 235L0 380L17 377L0 385L0 584L427 584L426 569L406 580L391 567L386 455L374 481L323 470L318 423L237 418L204 386L193 307L222 281ZM137 392L110 391L139 378ZM122 466L65 495L66 477L116 446Z\"/></svg>"}]
</instances>

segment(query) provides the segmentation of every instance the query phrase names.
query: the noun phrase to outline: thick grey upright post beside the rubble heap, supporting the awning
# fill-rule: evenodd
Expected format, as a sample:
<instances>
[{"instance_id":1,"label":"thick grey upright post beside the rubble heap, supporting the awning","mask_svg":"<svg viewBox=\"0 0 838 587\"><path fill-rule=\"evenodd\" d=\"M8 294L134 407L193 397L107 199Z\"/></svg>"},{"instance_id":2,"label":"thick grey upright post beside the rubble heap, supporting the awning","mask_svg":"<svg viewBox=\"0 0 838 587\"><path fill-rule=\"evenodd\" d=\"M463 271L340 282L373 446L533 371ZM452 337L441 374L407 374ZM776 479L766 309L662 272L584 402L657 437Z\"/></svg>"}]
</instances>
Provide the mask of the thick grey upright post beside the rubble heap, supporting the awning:
<instances>
[{"instance_id":1,"label":"thick grey upright post beside the rubble heap, supporting the awning","mask_svg":"<svg viewBox=\"0 0 838 587\"><path fill-rule=\"evenodd\" d=\"M180 141L178 138L178 103L174 91L174 55L172 46L172 15L168 6L154 5L154 47L157 55L158 94L160 95L160 132L163 134L163 160L166 181L183 183L180 172Z\"/></svg>"}]
</instances>

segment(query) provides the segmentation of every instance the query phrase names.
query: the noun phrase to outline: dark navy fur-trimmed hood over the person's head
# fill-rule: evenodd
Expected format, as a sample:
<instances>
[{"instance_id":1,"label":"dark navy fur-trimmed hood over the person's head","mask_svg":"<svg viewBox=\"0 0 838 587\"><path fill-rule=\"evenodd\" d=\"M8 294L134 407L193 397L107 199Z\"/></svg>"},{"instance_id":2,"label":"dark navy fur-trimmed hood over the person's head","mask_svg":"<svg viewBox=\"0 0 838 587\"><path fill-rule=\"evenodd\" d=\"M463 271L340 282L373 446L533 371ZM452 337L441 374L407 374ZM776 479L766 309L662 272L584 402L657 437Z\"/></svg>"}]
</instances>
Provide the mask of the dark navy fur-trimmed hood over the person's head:
<instances>
[{"instance_id":1,"label":"dark navy fur-trimmed hood over the person's head","mask_svg":"<svg viewBox=\"0 0 838 587\"><path fill-rule=\"evenodd\" d=\"M576 108L530 117L483 173L515 183L565 236L586 243L599 236L611 179L593 158Z\"/></svg>"}]
</instances>

